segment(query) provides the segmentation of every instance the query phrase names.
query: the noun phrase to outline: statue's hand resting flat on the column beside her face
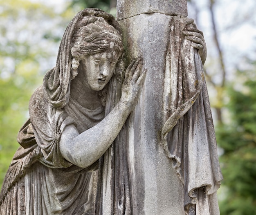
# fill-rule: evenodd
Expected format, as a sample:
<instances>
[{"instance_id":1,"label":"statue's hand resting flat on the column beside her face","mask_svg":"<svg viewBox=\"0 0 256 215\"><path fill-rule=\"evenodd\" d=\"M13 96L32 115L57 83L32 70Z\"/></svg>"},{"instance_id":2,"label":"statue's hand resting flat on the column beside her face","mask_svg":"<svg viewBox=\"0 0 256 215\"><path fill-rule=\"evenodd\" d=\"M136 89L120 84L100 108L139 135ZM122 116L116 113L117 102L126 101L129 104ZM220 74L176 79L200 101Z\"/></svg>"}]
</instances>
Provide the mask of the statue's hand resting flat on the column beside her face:
<instances>
[{"instance_id":1,"label":"statue's hand resting flat on the column beside her face","mask_svg":"<svg viewBox=\"0 0 256 215\"><path fill-rule=\"evenodd\" d=\"M134 108L141 92L142 85L146 77L146 70L142 72L143 60L138 58L132 60L126 69L124 82L122 84L122 94L120 101Z\"/></svg>"}]
</instances>

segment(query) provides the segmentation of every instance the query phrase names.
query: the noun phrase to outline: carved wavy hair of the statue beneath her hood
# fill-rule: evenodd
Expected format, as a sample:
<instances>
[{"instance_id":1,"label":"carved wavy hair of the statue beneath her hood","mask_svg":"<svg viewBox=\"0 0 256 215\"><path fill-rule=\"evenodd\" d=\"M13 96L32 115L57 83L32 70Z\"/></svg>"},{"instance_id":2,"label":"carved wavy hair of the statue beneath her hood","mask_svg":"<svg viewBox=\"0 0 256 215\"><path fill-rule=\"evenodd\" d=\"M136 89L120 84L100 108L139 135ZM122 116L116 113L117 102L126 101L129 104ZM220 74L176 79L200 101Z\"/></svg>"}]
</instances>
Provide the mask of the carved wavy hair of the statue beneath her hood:
<instances>
[{"instance_id":1,"label":"carved wavy hair of the statue beneath her hood","mask_svg":"<svg viewBox=\"0 0 256 215\"><path fill-rule=\"evenodd\" d=\"M110 50L119 55L123 52L119 32L102 17L85 16L77 25L72 36L73 47L71 79L78 74L79 60L82 56Z\"/></svg>"}]
</instances>

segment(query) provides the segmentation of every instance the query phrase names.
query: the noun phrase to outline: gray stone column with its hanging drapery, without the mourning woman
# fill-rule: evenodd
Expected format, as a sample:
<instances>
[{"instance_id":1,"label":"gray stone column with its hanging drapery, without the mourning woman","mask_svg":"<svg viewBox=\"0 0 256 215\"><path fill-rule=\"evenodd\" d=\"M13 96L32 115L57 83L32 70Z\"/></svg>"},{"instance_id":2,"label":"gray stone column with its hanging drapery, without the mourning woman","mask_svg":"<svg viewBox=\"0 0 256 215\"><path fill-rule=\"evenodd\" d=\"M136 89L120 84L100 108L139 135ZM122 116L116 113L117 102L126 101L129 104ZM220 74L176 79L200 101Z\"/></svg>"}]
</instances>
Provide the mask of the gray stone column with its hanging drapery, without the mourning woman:
<instances>
[{"instance_id":1,"label":"gray stone column with its hanging drapery, without the mourning woman","mask_svg":"<svg viewBox=\"0 0 256 215\"><path fill-rule=\"evenodd\" d=\"M142 57L147 75L121 134L126 151L117 155L119 141L105 154L103 214L219 214L222 175L202 69L206 47L186 15L186 1L117 1L126 60ZM111 204L120 180L112 174L125 168L128 195L121 195L122 205Z\"/></svg>"}]
</instances>

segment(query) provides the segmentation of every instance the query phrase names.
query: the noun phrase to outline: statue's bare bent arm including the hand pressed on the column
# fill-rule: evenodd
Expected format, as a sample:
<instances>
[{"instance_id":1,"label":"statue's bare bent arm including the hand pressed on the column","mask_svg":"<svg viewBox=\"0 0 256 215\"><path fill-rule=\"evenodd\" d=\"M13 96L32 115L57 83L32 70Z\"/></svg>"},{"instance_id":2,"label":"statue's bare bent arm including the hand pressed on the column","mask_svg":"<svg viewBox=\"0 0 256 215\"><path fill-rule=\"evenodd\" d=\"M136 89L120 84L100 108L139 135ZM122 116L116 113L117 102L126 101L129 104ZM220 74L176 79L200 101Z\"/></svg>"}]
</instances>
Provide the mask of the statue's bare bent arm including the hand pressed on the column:
<instances>
[{"instance_id":1,"label":"statue's bare bent arm including the hand pressed on the column","mask_svg":"<svg viewBox=\"0 0 256 215\"><path fill-rule=\"evenodd\" d=\"M126 70L119 103L97 125L79 134L74 125L68 125L60 138L62 156L76 166L86 168L97 161L115 140L130 112L135 108L145 71L141 60L131 63Z\"/></svg>"}]
</instances>

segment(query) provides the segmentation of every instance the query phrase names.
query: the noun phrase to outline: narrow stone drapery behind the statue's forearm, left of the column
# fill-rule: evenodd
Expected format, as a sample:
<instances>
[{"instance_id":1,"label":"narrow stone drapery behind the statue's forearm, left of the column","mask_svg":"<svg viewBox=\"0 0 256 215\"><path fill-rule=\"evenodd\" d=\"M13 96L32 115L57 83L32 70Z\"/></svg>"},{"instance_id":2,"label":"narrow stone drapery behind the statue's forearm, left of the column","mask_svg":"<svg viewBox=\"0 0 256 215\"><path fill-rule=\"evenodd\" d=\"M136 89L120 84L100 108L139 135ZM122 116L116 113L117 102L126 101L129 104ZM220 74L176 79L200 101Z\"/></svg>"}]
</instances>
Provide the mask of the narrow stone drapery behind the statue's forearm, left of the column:
<instances>
[{"instance_id":1,"label":"narrow stone drapery behind the statue's forearm, left of the column","mask_svg":"<svg viewBox=\"0 0 256 215\"><path fill-rule=\"evenodd\" d=\"M121 97L121 83L114 76L108 85L105 115ZM95 214L132 214L125 125L110 148L99 159Z\"/></svg>"}]
</instances>

